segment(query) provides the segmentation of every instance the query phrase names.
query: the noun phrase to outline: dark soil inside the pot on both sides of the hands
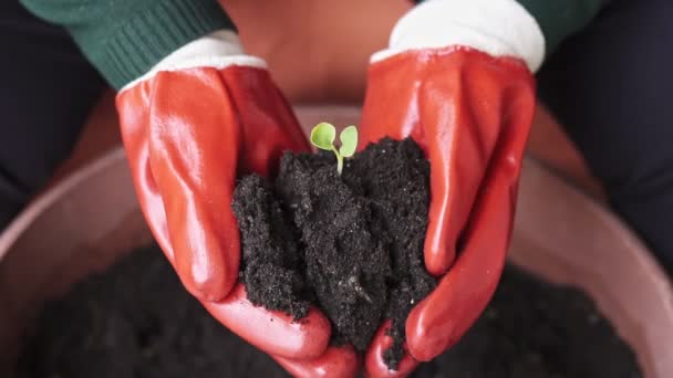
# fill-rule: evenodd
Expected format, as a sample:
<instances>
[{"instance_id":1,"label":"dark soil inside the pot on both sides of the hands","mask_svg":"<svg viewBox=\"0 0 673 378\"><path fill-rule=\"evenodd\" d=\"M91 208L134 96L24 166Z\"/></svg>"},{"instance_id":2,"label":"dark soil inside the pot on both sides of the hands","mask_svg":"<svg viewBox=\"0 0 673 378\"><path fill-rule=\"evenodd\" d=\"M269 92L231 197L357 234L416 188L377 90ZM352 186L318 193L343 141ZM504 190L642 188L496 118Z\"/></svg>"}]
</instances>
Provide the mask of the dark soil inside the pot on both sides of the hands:
<instances>
[{"instance_id":1,"label":"dark soil inside the pot on both sides of the hands","mask_svg":"<svg viewBox=\"0 0 673 378\"><path fill-rule=\"evenodd\" d=\"M219 325L157 246L46 305L21 378L288 377ZM631 350L579 291L507 267L488 308L416 378L636 378Z\"/></svg>"}]
</instances>

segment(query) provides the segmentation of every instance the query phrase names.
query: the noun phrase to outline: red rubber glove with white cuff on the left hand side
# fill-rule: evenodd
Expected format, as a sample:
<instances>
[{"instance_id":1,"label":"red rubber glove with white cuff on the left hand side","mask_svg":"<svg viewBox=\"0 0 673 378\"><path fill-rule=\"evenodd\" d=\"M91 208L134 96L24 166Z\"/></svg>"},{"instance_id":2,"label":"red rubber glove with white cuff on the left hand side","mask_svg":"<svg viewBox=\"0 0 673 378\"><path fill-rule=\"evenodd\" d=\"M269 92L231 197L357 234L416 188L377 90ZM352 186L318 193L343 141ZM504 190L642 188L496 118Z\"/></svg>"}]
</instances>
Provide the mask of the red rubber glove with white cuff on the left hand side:
<instances>
[{"instance_id":1,"label":"red rubber glove with white cuff on the left hand side","mask_svg":"<svg viewBox=\"0 0 673 378\"><path fill-rule=\"evenodd\" d=\"M345 377L350 348L328 348L330 323L253 306L237 284L235 179L266 176L309 145L265 63L217 32L162 61L117 95L122 135L147 223L185 287L225 326L304 377Z\"/></svg>"}]
</instances>

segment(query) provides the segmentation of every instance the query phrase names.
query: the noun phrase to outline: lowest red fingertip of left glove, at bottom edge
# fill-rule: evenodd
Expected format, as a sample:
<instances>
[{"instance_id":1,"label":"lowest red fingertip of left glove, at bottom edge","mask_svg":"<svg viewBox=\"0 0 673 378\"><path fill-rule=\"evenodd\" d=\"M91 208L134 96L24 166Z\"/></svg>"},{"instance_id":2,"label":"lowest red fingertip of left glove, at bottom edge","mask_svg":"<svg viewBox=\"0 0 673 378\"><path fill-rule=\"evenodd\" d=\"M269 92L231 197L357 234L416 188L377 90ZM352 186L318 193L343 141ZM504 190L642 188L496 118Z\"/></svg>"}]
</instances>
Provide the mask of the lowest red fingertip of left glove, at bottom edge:
<instances>
[{"instance_id":1,"label":"lowest red fingertip of left glove, at bottom edge","mask_svg":"<svg viewBox=\"0 0 673 378\"><path fill-rule=\"evenodd\" d=\"M360 365L352 347L329 347L314 359L271 357L297 378L352 378Z\"/></svg>"}]
</instances>

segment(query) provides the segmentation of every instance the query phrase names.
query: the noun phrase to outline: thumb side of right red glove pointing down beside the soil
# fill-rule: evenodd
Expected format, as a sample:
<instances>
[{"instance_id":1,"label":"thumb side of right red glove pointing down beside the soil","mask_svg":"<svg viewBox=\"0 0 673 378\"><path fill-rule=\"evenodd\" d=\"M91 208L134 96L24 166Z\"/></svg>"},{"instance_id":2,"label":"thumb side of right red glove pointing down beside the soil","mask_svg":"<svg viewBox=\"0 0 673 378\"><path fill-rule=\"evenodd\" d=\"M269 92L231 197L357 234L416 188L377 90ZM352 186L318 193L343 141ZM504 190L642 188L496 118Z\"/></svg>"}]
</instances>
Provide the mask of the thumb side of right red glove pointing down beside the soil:
<instances>
[{"instance_id":1,"label":"thumb side of right red glove pointing down beside the soil","mask_svg":"<svg viewBox=\"0 0 673 378\"><path fill-rule=\"evenodd\" d=\"M411 136L432 161L431 274L444 274L455 260L499 137L503 109L496 105L506 78L484 53L454 49L410 51L370 66L360 148L384 136Z\"/></svg>"}]
</instances>

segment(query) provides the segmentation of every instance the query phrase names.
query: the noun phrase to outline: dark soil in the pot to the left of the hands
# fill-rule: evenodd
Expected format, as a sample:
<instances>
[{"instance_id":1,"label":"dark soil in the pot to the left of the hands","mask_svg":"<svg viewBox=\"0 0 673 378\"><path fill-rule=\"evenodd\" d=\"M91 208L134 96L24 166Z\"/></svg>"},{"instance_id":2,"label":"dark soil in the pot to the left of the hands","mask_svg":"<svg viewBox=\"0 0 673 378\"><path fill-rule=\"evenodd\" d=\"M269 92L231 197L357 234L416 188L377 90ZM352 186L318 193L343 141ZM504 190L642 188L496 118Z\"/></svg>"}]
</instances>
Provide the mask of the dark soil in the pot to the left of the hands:
<instances>
[{"instance_id":1,"label":"dark soil in the pot to the left of the hands","mask_svg":"<svg viewBox=\"0 0 673 378\"><path fill-rule=\"evenodd\" d=\"M75 285L35 332L21 378L287 377L185 291L158 246Z\"/></svg>"}]
</instances>

